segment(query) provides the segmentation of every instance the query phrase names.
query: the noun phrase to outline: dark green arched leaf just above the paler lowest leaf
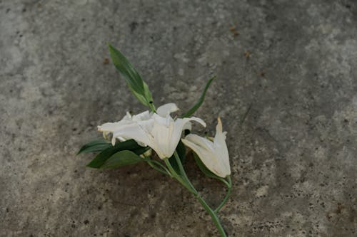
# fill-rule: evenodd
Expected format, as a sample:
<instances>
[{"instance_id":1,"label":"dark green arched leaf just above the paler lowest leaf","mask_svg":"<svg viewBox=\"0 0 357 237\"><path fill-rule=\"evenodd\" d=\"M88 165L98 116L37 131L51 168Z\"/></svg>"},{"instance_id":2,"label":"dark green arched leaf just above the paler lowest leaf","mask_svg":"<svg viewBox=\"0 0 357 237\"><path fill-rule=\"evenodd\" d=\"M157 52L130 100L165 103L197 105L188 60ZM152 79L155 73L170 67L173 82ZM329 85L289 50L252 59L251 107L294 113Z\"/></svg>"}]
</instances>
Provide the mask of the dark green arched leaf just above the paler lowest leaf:
<instances>
[{"instance_id":1,"label":"dark green arched leaf just above the paler lowest leaf","mask_svg":"<svg viewBox=\"0 0 357 237\"><path fill-rule=\"evenodd\" d=\"M149 147L141 147L138 143L134 141L134 139L127 140L125 142L119 142L114 147L109 147L104 149L104 151L100 152L99 154L91 160L87 167L91 168L100 168L109 157L111 157L116 152L130 150L135 154L143 154Z\"/></svg>"}]
</instances>

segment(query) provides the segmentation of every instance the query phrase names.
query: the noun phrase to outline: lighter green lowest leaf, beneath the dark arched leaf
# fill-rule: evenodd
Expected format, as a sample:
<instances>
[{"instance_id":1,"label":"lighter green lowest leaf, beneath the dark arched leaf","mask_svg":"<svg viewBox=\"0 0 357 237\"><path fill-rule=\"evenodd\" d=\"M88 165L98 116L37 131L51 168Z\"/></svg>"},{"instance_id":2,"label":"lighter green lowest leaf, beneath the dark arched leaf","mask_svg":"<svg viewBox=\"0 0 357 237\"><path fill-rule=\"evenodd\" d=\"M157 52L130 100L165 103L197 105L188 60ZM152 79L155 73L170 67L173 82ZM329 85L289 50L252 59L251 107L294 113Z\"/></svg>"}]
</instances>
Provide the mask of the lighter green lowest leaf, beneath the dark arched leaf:
<instances>
[{"instance_id":1,"label":"lighter green lowest leaf, beneath the dark arched leaf","mask_svg":"<svg viewBox=\"0 0 357 237\"><path fill-rule=\"evenodd\" d=\"M101 166L103 169L107 168L119 168L124 167L129 164L136 164L139 162L145 162L145 159L139 157L139 155L134 152L125 150L121 152L116 152L116 154L109 157L106 162Z\"/></svg>"}]
</instances>

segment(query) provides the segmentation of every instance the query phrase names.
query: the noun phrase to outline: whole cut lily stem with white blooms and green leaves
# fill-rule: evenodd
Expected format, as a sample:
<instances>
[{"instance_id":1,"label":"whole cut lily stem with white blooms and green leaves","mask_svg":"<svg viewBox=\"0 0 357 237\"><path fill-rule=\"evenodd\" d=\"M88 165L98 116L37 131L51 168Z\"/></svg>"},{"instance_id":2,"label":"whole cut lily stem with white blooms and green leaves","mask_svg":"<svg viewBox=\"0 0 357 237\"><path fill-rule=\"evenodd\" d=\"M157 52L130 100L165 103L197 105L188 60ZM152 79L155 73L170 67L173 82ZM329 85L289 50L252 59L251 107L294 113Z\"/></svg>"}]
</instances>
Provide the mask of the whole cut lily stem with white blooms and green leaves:
<instances>
[{"instance_id":1,"label":"whole cut lily stem with white blooms and green leaves","mask_svg":"<svg viewBox=\"0 0 357 237\"><path fill-rule=\"evenodd\" d=\"M171 113L178 111L177 105L168 103L156 109L149 85L141 78L139 72L119 49L111 44L108 44L108 47L114 66L126 81L131 93L149 110L136 115L126 112L120 121L106 122L98 126L99 132L103 133L105 139L94 139L84 144L77 154L99 152L87 164L87 167L94 169L114 169L146 162L161 174L176 179L193 194L211 216L220 236L227 237L218 218L218 211L226 204L232 189L226 132L223 132L222 122L218 117L214 138L200 137L191 133L192 121L206 127L206 123L201 118L191 115L201 107L216 75L207 80L197 102L182 117L173 117ZM190 131L188 135L186 130ZM226 196L216 208L207 204L188 178L184 168L186 148L192 150L195 162L203 174L221 181L226 186ZM156 153L159 159L153 153Z\"/></svg>"}]
</instances>

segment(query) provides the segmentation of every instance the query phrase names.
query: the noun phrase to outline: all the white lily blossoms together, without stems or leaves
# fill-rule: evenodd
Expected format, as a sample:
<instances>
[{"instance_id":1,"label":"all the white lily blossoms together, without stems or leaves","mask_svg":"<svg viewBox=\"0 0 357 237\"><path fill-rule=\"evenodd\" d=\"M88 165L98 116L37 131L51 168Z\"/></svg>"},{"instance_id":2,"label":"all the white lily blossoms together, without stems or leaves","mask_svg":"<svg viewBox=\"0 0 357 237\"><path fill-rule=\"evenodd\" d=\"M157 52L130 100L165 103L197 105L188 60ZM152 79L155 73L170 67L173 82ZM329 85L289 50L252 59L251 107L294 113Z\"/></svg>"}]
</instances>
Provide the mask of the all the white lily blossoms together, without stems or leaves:
<instances>
[{"instance_id":1,"label":"all the white lily blossoms together, without stems or leaves","mask_svg":"<svg viewBox=\"0 0 357 237\"><path fill-rule=\"evenodd\" d=\"M168 103L159 107L156 112L144 111L138 115L131 115L127 112L119 122L104 123L104 125L98 126L98 130L104 135L111 133L113 145L116 143L116 139L120 141L134 139L141 146L149 146L154 149L161 159L167 159L174 154L182 131L191 130L190 121L196 121L206 127L206 123L198 117L174 119L170 114L176 111L178 111L176 104ZM222 123L219 118L213 142L206 137L192 134L187 135L182 139L182 142L190 147L214 174L223 178L231 174L226 132L222 131Z\"/></svg>"}]
</instances>

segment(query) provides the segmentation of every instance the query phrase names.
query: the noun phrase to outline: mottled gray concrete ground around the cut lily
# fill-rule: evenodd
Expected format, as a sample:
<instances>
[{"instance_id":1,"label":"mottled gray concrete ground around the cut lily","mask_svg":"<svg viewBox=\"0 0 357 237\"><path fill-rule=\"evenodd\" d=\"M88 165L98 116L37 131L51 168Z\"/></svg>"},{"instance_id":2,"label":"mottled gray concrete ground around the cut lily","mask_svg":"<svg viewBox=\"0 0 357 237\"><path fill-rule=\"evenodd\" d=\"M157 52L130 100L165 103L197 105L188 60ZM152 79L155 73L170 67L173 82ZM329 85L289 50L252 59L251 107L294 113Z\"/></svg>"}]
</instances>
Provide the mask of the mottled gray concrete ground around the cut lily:
<instances>
[{"instance_id":1,"label":"mottled gray concrete ground around the cut lily","mask_svg":"<svg viewBox=\"0 0 357 237\"><path fill-rule=\"evenodd\" d=\"M0 236L217 236L201 206L145 164L75 156L134 100L120 48L154 93L228 131L229 236L357 236L357 2L0 1ZM188 174L210 204L224 189Z\"/></svg>"}]
</instances>

